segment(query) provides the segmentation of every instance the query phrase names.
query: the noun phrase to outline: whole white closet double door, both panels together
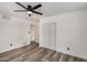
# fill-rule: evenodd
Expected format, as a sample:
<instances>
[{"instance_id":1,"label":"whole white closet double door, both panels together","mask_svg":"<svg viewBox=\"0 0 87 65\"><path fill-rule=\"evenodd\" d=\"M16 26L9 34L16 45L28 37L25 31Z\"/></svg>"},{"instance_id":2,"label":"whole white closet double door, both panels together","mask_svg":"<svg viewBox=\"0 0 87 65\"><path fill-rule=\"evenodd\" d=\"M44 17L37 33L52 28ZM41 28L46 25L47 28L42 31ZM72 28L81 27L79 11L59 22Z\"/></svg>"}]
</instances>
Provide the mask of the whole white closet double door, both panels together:
<instances>
[{"instance_id":1,"label":"whole white closet double door, both panels together","mask_svg":"<svg viewBox=\"0 0 87 65\"><path fill-rule=\"evenodd\" d=\"M42 45L51 50L56 50L56 23L50 22L42 24Z\"/></svg>"}]
</instances>

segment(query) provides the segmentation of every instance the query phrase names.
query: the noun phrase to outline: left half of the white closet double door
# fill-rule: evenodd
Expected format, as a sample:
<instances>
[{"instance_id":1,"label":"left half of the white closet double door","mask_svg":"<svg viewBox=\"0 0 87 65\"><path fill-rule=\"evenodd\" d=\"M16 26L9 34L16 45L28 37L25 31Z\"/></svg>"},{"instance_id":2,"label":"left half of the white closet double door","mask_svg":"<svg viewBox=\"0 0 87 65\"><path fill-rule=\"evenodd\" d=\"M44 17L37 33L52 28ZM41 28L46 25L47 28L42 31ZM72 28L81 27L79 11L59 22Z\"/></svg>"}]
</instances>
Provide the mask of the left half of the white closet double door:
<instances>
[{"instance_id":1,"label":"left half of the white closet double door","mask_svg":"<svg viewBox=\"0 0 87 65\"><path fill-rule=\"evenodd\" d=\"M42 46L50 47L50 28L47 23L42 24Z\"/></svg>"}]
</instances>

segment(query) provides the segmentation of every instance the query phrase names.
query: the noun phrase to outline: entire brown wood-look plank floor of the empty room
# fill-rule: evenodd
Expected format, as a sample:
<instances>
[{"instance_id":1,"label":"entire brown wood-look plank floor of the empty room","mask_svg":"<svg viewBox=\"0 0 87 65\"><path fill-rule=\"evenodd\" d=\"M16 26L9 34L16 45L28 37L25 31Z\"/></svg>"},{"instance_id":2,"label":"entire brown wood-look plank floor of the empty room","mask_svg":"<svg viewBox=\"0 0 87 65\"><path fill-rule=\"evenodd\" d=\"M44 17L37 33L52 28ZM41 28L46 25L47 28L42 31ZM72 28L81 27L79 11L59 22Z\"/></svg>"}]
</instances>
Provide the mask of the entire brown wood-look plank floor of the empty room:
<instances>
[{"instance_id":1,"label":"entire brown wood-look plank floor of the empty room","mask_svg":"<svg viewBox=\"0 0 87 65\"><path fill-rule=\"evenodd\" d=\"M87 59L40 47L33 43L0 53L0 62L87 62Z\"/></svg>"}]
</instances>

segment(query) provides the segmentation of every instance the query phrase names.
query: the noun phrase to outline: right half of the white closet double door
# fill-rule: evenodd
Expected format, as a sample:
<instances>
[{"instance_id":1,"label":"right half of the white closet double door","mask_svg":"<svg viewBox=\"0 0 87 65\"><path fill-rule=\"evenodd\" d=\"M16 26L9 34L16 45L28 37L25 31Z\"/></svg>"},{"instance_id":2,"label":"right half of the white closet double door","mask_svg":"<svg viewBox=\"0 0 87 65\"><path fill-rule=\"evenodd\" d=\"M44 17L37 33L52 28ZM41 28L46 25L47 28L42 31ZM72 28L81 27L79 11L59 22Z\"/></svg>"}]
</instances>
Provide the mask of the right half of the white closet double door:
<instances>
[{"instance_id":1,"label":"right half of the white closet double door","mask_svg":"<svg viewBox=\"0 0 87 65\"><path fill-rule=\"evenodd\" d=\"M48 30L48 35L50 35L50 48L52 50L56 50L56 23L52 22L48 24L50 25L50 30Z\"/></svg>"}]
</instances>

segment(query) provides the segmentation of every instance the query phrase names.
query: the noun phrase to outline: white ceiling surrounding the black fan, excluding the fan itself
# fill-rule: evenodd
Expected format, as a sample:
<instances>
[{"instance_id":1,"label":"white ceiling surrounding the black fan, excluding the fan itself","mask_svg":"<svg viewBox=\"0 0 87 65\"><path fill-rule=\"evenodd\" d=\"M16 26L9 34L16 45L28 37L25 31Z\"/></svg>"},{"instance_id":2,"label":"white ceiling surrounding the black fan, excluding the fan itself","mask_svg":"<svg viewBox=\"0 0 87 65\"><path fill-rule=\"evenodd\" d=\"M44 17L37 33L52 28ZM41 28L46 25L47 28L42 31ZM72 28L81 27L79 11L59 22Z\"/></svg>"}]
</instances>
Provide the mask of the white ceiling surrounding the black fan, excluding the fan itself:
<instances>
[{"instance_id":1,"label":"white ceiling surrounding the black fan, excluding the fan itself","mask_svg":"<svg viewBox=\"0 0 87 65\"><path fill-rule=\"evenodd\" d=\"M33 14L32 18L43 18L51 17L55 14L66 13L70 11L77 11L87 9L87 2L21 2L25 7L28 4L36 6L41 3L43 7L39 8L36 11L42 12L43 15ZM23 10L20 6L14 2L0 2L0 13L3 14L13 14L21 18L26 18L28 14L25 12L13 12L13 10Z\"/></svg>"}]
</instances>

